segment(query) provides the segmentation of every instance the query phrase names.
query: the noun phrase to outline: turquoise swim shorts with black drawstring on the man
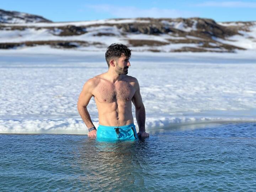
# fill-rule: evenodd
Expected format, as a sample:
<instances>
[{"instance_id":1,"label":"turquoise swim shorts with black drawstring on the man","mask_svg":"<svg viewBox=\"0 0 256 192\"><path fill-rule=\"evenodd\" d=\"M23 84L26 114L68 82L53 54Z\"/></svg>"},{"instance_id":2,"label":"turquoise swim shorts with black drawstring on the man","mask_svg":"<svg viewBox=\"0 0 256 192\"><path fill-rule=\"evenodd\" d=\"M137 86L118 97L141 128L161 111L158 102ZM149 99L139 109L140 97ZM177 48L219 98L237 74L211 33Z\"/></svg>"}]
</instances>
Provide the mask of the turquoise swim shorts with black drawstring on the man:
<instances>
[{"instance_id":1,"label":"turquoise swim shorts with black drawstring on the man","mask_svg":"<svg viewBox=\"0 0 256 192\"><path fill-rule=\"evenodd\" d=\"M110 140L132 140L138 139L135 125L129 124L126 126L102 126L99 125L96 134L97 139Z\"/></svg>"}]
</instances>

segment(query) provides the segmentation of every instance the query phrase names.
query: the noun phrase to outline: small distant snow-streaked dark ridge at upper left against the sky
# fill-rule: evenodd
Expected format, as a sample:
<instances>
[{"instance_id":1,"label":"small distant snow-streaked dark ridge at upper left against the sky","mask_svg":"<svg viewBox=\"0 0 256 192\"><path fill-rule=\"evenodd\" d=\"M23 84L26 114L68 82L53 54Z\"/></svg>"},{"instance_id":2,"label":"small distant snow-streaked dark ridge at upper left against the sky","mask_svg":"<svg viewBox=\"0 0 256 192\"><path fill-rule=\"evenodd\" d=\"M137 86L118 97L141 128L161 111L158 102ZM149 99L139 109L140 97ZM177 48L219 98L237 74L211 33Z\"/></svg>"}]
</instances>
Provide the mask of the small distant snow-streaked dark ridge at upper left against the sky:
<instances>
[{"instance_id":1,"label":"small distant snow-streaked dark ridge at upper left against the sky","mask_svg":"<svg viewBox=\"0 0 256 192\"><path fill-rule=\"evenodd\" d=\"M5 11L0 9L0 23L38 23L52 22L42 16L22 13L18 11Z\"/></svg>"}]
</instances>

